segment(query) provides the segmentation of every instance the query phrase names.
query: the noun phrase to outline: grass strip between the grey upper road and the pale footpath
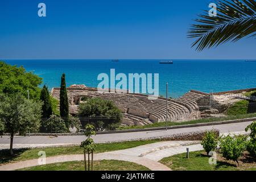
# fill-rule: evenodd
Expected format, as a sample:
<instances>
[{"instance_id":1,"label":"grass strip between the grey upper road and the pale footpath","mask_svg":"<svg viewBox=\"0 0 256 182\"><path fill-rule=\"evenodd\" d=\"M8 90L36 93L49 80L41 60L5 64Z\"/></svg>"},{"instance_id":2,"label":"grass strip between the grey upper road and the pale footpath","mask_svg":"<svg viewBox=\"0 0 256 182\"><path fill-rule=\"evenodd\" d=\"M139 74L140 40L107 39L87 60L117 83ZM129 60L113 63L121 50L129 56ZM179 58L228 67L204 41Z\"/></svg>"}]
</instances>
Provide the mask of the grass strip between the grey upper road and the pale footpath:
<instances>
[{"instance_id":1,"label":"grass strip between the grey upper road and the pale footpath","mask_svg":"<svg viewBox=\"0 0 256 182\"><path fill-rule=\"evenodd\" d=\"M95 153L122 150L159 141L160 140L138 140L131 142L98 143ZM18 149L14 150L14 156L9 155L9 150L0 150L0 164L18 162L20 160L37 159L39 158L39 151L45 151L47 157L55 155L84 154L82 148L79 146Z\"/></svg>"}]
</instances>

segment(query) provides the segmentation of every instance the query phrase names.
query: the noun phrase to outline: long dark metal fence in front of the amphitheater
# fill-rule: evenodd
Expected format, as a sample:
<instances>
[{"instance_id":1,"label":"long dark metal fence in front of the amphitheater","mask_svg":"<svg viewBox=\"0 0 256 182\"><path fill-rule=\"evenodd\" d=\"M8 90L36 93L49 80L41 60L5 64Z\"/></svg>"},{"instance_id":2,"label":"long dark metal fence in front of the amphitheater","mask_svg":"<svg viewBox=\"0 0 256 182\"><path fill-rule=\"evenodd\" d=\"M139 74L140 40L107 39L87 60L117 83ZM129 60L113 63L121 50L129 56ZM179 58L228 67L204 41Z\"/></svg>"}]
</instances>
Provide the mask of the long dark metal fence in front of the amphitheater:
<instances>
[{"instance_id":1,"label":"long dark metal fence in front of the amphitheater","mask_svg":"<svg viewBox=\"0 0 256 182\"><path fill-rule=\"evenodd\" d=\"M226 121L233 119L256 117L256 102L247 101L243 104L230 106L199 105L198 108L183 112L179 109L164 109L161 112L137 111L119 115L100 115L90 117L44 118L40 122L39 130L31 133L81 133L87 124L91 124L96 131L113 131L125 129L146 129L149 127L166 127Z\"/></svg>"}]
</instances>

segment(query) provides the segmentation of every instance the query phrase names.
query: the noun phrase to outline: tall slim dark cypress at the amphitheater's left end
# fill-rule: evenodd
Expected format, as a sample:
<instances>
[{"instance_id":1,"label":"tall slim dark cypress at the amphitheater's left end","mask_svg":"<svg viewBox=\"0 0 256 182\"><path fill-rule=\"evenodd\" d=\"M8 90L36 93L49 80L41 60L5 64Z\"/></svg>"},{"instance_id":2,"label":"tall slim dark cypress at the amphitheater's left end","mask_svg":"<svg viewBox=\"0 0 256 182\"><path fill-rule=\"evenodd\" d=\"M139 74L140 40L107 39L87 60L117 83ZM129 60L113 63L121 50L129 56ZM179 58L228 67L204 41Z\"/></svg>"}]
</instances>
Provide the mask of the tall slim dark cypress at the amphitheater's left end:
<instances>
[{"instance_id":1,"label":"tall slim dark cypress at the amphitheater's left end","mask_svg":"<svg viewBox=\"0 0 256 182\"><path fill-rule=\"evenodd\" d=\"M65 73L61 76L60 84L60 116L68 118L68 94L65 81Z\"/></svg>"}]
</instances>

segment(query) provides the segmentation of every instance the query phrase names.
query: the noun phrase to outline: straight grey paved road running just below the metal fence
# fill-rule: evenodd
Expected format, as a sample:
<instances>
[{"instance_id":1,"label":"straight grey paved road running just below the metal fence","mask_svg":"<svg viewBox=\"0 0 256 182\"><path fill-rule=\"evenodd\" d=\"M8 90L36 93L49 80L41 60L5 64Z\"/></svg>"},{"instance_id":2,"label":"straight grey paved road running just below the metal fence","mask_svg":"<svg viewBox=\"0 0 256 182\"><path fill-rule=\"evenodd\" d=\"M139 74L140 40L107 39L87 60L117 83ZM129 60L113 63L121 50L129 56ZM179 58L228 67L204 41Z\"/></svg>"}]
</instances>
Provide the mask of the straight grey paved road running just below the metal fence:
<instances>
[{"instance_id":1,"label":"straight grey paved road running just below the metal fence","mask_svg":"<svg viewBox=\"0 0 256 182\"><path fill-rule=\"evenodd\" d=\"M170 129L170 130L157 130L157 131L139 131L134 133L115 133L115 134L98 134L93 136L96 143L107 143L107 142L121 142L127 140L139 140L139 139L154 139L157 137L164 137L172 134L188 133L192 131L203 131L210 129L220 130L220 133L229 133L236 131L245 131L247 125L251 122L240 122L240 123L229 123L224 125L212 125L212 126L200 126L200 127L186 127L181 129ZM65 144L79 144L85 137L82 135L75 136L31 136L31 137L14 137L14 147L20 146L63 146ZM0 149L8 148L10 143L9 136L3 136L0 138Z\"/></svg>"}]
</instances>

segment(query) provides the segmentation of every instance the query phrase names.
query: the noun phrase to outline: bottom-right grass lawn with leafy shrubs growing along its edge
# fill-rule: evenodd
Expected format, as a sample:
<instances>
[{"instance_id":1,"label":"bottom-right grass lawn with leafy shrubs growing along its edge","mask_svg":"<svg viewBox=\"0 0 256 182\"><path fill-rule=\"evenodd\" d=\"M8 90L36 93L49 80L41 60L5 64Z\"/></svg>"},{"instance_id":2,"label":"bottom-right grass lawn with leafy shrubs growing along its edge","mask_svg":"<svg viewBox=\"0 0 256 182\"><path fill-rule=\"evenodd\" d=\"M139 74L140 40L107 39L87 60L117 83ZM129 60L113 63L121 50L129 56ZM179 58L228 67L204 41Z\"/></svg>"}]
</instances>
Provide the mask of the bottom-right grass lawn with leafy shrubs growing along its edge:
<instances>
[{"instance_id":1,"label":"bottom-right grass lawn with leafy shrubs growing along its edge","mask_svg":"<svg viewBox=\"0 0 256 182\"><path fill-rule=\"evenodd\" d=\"M217 164L209 164L209 156L205 151L189 152L189 159L186 154L177 154L160 160L160 163L170 167L176 171L235 171L235 170L254 170L256 171L256 163L253 159L244 154L239 160L240 167L231 160L225 160L222 155L217 152Z\"/></svg>"}]
</instances>

